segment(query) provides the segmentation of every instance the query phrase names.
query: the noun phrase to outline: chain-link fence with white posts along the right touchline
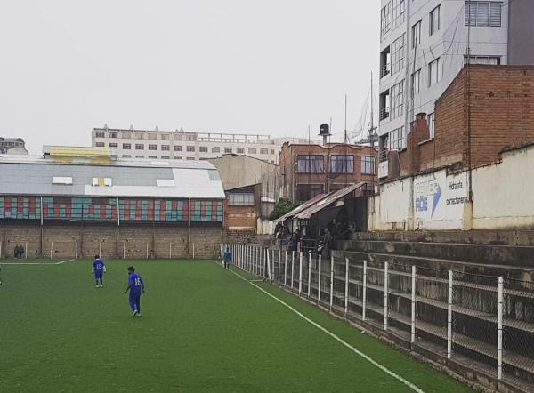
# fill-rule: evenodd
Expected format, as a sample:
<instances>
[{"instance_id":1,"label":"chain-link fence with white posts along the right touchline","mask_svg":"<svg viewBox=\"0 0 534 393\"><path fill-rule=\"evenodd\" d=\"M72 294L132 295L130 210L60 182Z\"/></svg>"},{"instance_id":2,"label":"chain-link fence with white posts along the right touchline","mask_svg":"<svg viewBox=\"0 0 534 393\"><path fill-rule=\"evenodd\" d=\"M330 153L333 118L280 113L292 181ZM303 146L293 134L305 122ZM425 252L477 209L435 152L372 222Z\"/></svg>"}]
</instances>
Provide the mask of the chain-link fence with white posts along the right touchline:
<instances>
[{"instance_id":1,"label":"chain-link fence with white posts along the right touchline","mask_svg":"<svg viewBox=\"0 0 534 393\"><path fill-rule=\"evenodd\" d=\"M240 269L389 331L413 350L469 359L498 380L534 387L533 282L265 245L231 250Z\"/></svg>"}]
</instances>

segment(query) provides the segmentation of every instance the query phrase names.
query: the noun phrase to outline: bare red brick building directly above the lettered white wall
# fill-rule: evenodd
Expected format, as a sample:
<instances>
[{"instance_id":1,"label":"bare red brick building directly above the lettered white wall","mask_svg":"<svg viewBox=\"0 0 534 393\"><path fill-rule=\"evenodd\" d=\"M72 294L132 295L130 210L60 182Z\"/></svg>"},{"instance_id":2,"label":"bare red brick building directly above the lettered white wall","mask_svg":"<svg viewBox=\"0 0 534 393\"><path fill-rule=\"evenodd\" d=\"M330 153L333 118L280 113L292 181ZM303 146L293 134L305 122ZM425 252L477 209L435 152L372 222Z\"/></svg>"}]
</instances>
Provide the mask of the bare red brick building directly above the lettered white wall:
<instances>
[{"instance_id":1,"label":"bare red brick building directly above the lettered white wall","mask_svg":"<svg viewBox=\"0 0 534 393\"><path fill-rule=\"evenodd\" d=\"M417 115L407 148L388 153L389 179L450 164L480 166L534 141L534 66L465 67L436 101L435 136Z\"/></svg>"}]
</instances>

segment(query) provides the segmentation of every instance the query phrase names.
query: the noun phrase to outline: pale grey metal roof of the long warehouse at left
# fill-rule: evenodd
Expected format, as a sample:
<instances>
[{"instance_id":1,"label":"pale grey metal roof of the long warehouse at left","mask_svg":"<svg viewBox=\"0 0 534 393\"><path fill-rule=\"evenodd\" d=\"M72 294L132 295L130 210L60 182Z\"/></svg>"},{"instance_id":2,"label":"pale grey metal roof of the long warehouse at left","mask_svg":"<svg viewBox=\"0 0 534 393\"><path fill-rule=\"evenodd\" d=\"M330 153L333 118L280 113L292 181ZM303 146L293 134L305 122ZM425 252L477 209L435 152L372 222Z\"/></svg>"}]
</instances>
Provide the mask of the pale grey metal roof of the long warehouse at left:
<instances>
[{"instance_id":1,"label":"pale grey metal roof of the long warehouse at left","mask_svg":"<svg viewBox=\"0 0 534 393\"><path fill-rule=\"evenodd\" d=\"M0 156L0 195L224 198L206 161Z\"/></svg>"}]
</instances>

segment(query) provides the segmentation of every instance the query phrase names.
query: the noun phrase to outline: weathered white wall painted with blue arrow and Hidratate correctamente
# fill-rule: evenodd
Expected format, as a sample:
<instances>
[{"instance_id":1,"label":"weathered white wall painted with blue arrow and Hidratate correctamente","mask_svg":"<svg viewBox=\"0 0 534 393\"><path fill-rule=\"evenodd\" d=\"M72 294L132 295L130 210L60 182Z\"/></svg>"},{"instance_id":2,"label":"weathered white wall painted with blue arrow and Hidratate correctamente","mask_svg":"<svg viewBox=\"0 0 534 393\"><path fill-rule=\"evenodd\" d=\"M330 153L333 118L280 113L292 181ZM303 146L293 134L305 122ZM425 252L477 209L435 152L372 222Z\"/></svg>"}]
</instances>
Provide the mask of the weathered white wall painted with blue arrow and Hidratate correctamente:
<instances>
[{"instance_id":1,"label":"weathered white wall painted with blue arrow and Hidratate correctamente","mask_svg":"<svg viewBox=\"0 0 534 393\"><path fill-rule=\"evenodd\" d=\"M368 198L369 230L534 228L534 145L469 171L443 168L378 186ZM469 201L469 181L473 202Z\"/></svg>"}]
</instances>

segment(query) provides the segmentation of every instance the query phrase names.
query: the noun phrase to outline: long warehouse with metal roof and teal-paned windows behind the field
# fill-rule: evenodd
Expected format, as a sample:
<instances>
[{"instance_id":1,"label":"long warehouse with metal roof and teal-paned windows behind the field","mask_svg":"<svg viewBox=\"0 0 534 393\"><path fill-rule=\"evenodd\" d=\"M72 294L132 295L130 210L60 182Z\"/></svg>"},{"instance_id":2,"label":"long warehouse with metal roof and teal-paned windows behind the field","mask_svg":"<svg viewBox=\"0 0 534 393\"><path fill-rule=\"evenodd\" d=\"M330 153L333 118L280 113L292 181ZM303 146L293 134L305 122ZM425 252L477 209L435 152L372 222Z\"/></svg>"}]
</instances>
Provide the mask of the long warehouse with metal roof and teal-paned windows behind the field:
<instances>
[{"instance_id":1,"label":"long warehouse with metal roof and teal-paned windows behind the field","mask_svg":"<svg viewBox=\"0 0 534 393\"><path fill-rule=\"evenodd\" d=\"M109 148L0 157L0 256L211 258L223 184L206 161L122 159Z\"/></svg>"}]
</instances>

